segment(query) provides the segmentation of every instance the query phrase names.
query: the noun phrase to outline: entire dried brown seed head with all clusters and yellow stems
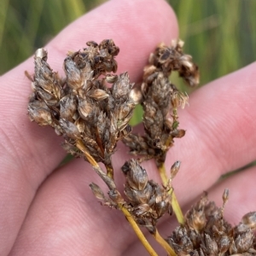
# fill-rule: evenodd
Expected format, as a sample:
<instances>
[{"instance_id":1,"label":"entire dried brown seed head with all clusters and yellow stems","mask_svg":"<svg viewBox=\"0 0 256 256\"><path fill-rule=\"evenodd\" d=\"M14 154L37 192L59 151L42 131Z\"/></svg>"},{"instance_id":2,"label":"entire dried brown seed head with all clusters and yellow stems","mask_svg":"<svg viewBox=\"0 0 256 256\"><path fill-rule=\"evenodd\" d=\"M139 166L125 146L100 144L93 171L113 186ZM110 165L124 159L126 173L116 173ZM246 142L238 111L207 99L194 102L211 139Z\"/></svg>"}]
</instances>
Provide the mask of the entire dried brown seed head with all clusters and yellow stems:
<instances>
[{"instance_id":1,"label":"entire dried brown seed head with all clusters and yellow stems","mask_svg":"<svg viewBox=\"0 0 256 256\"><path fill-rule=\"evenodd\" d=\"M31 78L29 117L38 125L52 126L57 135L64 137L63 148L67 152L90 162L109 189L106 196L96 183L90 183L93 194L102 205L122 211L142 242L146 238L134 224L146 227L168 255L256 255L253 234L256 212L247 213L236 227L228 224L223 218L229 194L226 189L223 207L216 207L205 194L183 220L172 188L179 161L172 165L169 177L166 176L166 153L174 138L185 135L185 131L178 128L177 108L183 108L188 102L188 96L177 90L169 76L177 71L189 86L199 83L198 68L191 56L183 54L182 48L180 40L173 41L170 47L160 44L144 68L143 83L136 88L128 73L113 74L118 67L114 58L119 54L119 47L111 39L100 44L90 41L86 48L68 53L64 60L64 79L49 67L47 51L38 49ZM144 111L143 136L132 134L129 125L137 103L142 104ZM123 140L132 154L143 156L126 161L121 168L125 175L125 197L117 189L111 161L119 140ZM163 185L148 180L148 173L140 166L143 160L152 158ZM102 162L106 170L103 171L98 162ZM164 240L156 224L172 211L181 225Z\"/></svg>"}]
</instances>

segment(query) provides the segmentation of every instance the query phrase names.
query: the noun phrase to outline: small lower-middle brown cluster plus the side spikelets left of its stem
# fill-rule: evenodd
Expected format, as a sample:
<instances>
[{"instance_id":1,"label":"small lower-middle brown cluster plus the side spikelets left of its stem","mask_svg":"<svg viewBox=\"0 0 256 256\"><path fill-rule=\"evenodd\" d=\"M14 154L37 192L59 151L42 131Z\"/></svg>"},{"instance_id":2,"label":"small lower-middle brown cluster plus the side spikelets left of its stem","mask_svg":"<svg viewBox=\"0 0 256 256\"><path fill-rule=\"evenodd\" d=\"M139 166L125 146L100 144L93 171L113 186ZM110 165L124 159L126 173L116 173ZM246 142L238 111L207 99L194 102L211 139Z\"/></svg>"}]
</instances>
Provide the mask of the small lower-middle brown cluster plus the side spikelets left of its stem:
<instances>
[{"instance_id":1,"label":"small lower-middle brown cluster plus the side spikelets left of its stem","mask_svg":"<svg viewBox=\"0 0 256 256\"><path fill-rule=\"evenodd\" d=\"M108 197L95 183L90 184L90 189L104 206L117 208L118 203L125 205L137 224L155 234L158 219L166 213L172 214L172 194L169 193L172 190L172 180L166 187L148 180L148 173L134 159L126 161L122 171L126 178L125 201L116 189L110 190Z\"/></svg>"}]
</instances>

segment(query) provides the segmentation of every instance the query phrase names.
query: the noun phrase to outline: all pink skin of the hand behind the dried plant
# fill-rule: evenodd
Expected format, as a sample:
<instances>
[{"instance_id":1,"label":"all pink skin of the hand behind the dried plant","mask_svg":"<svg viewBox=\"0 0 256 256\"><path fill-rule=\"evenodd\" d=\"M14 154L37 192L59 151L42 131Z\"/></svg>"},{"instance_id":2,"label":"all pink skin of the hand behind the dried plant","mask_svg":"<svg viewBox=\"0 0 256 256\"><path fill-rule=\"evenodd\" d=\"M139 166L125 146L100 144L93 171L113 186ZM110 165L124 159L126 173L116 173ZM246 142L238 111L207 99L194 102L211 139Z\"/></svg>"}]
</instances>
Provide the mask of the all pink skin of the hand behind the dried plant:
<instances>
[{"instance_id":1,"label":"all pink skin of the hand behind the dried plant","mask_svg":"<svg viewBox=\"0 0 256 256\"><path fill-rule=\"evenodd\" d=\"M165 1L113 0L67 26L45 49L50 66L63 75L68 50L113 38L121 49L118 73L128 71L131 81L138 81L156 44L177 37L177 20ZM105 186L88 163L73 160L56 169L65 156L61 137L29 121L25 70L33 73L32 57L0 78L0 255L147 255L121 212L102 207L92 195L91 182ZM187 133L170 150L166 169L182 161L174 187L184 210L203 190L221 206L224 188L230 189L224 216L231 224L256 210L255 167L216 183L220 175L255 160L255 70L254 62L207 84L190 96L189 108L179 111ZM114 168L129 158L119 145ZM143 166L158 180L153 162ZM116 177L122 189L124 177ZM170 235L175 225L174 217L165 218L160 233Z\"/></svg>"}]
</instances>

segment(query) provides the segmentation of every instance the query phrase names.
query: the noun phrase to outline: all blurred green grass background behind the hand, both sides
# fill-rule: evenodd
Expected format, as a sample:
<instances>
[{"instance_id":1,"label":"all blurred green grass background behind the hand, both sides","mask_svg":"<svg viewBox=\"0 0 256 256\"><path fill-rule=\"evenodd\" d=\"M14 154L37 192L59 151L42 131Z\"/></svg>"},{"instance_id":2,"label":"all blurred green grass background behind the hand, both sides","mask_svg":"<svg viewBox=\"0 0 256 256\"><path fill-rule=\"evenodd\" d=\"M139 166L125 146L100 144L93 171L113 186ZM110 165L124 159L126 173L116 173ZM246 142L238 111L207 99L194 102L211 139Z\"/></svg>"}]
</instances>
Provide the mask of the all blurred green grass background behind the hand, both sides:
<instances>
[{"instance_id":1,"label":"all blurred green grass background behind the hand, both sides","mask_svg":"<svg viewBox=\"0 0 256 256\"><path fill-rule=\"evenodd\" d=\"M121 0L120 0L121 1ZM0 75L104 0L0 0ZM256 0L168 0L177 14L184 51L201 70L201 84L256 57ZM150 4L150 0L148 0ZM183 89L177 77L174 84ZM189 93L189 88L186 88ZM141 120L138 111L132 123Z\"/></svg>"}]
</instances>

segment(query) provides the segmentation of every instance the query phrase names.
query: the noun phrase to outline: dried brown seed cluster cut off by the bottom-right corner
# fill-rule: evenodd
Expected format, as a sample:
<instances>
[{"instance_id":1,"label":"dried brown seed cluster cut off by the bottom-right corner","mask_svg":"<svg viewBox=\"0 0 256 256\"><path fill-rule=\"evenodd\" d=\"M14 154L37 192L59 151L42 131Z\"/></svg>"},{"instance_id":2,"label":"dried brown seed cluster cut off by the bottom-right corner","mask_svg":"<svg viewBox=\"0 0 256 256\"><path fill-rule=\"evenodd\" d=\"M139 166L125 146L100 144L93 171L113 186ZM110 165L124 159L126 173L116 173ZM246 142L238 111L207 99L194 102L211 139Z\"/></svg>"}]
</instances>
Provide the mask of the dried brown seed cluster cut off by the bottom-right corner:
<instances>
[{"instance_id":1,"label":"dried brown seed cluster cut off by the bottom-right corner","mask_svg":"<svg viewBox=\"0 0 256 256\"><path fill-rule=\"evenodd\" d=\"M227 189L224 191L224 204ZM232 227L223 217L223 208L201 197L185 215L185 224L177 227L167 241L177 255L256 255L256 212L248 212Z\"/></svg>"}]
</instances>

